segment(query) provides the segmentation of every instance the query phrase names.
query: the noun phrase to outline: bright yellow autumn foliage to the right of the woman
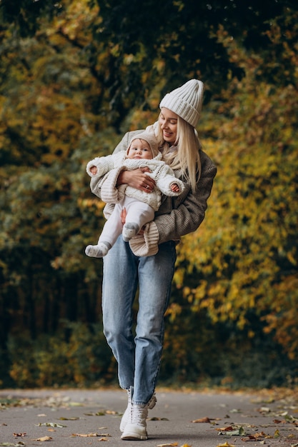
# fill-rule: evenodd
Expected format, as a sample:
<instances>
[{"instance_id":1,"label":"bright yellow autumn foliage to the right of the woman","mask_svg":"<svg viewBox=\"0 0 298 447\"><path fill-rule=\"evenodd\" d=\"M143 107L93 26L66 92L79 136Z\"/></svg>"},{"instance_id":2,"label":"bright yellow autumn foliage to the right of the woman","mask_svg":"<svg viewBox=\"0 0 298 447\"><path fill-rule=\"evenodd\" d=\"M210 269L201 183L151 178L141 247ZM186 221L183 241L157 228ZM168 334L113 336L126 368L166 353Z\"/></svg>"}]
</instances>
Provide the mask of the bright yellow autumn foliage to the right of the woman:
<instances>
[{"instance_id":1,"label":"bright yellow autumn foliage to the right of the woman","mask_svg":"<svg viewBox=\"0 0 298 447\"><path fill-rule=\"evenodd\" d=\"M179 250L177 283L188 284L184 296L193 310L206 308L215 323L247 328L254 309L264 332L297 359L297 82L257 81L261 59L247 58L237 44L230 52L247 76L233 79L224 102L214 104L212 116L228 117L217 127L219 141L205 143L219 175L208 224L198 237L186 236Z\"/></svg>"}]
</instances>

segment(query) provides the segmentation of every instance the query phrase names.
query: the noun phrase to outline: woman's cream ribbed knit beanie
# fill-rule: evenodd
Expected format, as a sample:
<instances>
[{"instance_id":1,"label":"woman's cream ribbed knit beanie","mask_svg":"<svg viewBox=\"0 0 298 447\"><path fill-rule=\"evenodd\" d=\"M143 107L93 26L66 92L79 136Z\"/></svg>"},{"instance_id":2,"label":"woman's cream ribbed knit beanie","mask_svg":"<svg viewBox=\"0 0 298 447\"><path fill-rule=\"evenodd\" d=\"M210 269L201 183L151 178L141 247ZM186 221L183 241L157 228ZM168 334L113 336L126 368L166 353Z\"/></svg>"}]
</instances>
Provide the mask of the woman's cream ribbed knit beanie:
<instances>
[{"instance_id":1,"label":"woman's cream ribbed knit beanie","mask_svg":"<svg viewBox=\"0 0 298 447\"><path fill-rule=\"evenodd\" d=\"M159 108L166 107L195 127L202 111L203 92L202 81L191 79L164 96Z\"/></svg>"}]
</instances>

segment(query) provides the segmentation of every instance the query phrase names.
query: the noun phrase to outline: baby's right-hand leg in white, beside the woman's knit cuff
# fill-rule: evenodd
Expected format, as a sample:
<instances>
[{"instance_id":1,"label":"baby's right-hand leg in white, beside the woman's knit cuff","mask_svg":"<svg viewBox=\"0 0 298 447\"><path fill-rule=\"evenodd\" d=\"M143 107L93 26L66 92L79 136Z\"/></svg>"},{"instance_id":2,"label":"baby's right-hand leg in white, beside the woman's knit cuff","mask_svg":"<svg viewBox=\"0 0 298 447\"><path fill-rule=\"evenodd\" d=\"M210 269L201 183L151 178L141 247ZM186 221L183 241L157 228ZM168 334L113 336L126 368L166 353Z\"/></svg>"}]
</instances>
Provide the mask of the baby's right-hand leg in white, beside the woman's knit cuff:
<instances>
[{"instance_id":1,"label":"baby's right-hand leg in white, beside the woman's knit cuff","mask_svg":"<svg viewBox=\"0 0 298 447\"><path fill-rule=\"evenodd\" d=\"M122 237L124 241L130 239L139 233L139 230L154 219L154 209L144 204L144 202L137 201L131 197L126 197L125 200L126 219L122 230Z\"/></svg>"}]
</instances>

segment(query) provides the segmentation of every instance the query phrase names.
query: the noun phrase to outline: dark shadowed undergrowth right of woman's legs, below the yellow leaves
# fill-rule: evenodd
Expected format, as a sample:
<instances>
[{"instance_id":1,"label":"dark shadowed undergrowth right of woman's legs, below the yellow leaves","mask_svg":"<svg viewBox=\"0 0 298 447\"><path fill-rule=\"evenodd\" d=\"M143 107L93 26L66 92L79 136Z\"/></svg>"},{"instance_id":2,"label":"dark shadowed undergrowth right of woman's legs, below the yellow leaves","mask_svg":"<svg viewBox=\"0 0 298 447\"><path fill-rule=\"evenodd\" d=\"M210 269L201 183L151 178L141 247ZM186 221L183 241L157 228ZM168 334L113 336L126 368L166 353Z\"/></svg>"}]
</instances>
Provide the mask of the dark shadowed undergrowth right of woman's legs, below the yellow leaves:
<instances>
[{"instance_id":1,"label":"dark shadowed undergrowth right of woman's legs, below the yellow leaves","mask_svg":"<svg viewBox=\"0 0 298 447\"><path fill-rule=\"evenodd\" d=\"M262 333L254 310L247 318L247 330L239 330L232 320L214 323L208 309L189 313L182 293L175 295L167 311L160 381L230 388L294 386L297 362ZM249 336L252 328L254 337Z\"/></svg>"}]
</instances>

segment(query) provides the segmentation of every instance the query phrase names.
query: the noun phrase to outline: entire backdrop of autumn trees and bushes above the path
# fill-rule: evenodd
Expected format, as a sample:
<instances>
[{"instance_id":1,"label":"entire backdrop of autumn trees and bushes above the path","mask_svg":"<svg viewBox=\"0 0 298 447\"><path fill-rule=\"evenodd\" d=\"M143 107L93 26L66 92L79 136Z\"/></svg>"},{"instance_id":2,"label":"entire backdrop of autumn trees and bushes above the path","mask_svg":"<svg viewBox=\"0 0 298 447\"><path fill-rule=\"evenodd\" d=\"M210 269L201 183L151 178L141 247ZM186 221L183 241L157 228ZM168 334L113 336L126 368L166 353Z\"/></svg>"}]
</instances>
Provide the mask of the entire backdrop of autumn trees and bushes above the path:
<instances>
[{"instance_id":1,"label":"entire backdrop of autumn trees and bushes above the path","mask_svg":"<svg viewBox=\"0 0 298 447\"><path fill-rule=\"evenodd\" d=\"M206 221L178 247L161 378L281 384L298 356L297 8L135 9L1 2L0 385L114 380L101 261L84 255L104 224L86 162L192 77L206 86L198 130L218 175Z\"/></svg>"}]
</instances>

